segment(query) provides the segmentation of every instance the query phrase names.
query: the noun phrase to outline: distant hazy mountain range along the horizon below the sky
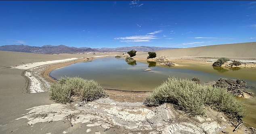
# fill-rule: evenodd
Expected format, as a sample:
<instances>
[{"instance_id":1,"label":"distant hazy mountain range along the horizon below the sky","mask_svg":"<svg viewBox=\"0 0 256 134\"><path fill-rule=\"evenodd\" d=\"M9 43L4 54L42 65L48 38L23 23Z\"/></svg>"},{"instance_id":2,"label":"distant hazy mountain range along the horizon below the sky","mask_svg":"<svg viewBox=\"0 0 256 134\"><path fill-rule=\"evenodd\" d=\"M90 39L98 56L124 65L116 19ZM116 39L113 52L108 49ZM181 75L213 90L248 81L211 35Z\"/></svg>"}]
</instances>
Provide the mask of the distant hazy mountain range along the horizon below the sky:
<instances>
[{"instance_id":1,"label":"distant hazy mountain range along the horizon below the sky","mask_svg":"<svg viewBox=\"0 0 256 134\"><path fill-rule=\"evenodd\" d=\"M68 47L65 45L43 45L42 47L29 45L2 45L0 51L27 52L38 54L77 54L85 52L128 52L131 49L143 52L152 52L164 49L175 49L170 47L149 47L149 46L133 46L133 47L117 47L117 48L90 48L90 47Z\"/></svg>"}]
</instances>

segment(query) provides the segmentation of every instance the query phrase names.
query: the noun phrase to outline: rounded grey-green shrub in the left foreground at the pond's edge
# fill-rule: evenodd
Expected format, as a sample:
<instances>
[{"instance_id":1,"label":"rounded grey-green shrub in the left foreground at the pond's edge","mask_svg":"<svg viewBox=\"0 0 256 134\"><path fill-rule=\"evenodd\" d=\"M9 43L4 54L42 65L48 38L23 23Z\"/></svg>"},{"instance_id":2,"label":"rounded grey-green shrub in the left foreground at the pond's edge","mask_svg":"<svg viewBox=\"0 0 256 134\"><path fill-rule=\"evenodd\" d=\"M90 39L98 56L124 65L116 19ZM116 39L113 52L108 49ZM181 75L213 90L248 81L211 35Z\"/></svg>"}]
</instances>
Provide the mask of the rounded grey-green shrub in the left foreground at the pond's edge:
<instances>
[{"instance_id":1,"label":"rounded grey-green shrub in the left foreground at the pond's edge","mask_svg":"<svg viewBox=\"0 0 256 134\"><path fill-rule=\"evenodd\" d=\"M94 101L101 97L107 97L105 90L94 80L86 80L78 77L65 77L52 83L50 87L50 99L57 103L70 103L76 96L80 101Z\"/></svg>"}]
</instances>

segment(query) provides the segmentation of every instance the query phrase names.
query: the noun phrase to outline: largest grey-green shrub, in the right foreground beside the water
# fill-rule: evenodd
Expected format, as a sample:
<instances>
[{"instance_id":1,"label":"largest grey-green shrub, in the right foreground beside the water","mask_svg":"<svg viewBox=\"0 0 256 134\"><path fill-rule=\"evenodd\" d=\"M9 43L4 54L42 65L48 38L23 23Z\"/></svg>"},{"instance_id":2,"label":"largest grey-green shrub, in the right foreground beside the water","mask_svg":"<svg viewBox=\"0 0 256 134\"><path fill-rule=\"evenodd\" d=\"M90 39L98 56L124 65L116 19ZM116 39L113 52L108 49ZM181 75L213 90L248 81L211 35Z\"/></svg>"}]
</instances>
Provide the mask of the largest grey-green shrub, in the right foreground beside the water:
<instances>
[{"instance_id":1,"label":"largest grey-green shrub, in the right foreground beside the water","mask_svg":"<svg viewBox=\"0 0 256 134\"><path fill-rule=\"evenodd\" d=\"M144 101L147 106L157 106L162 103L173 103L191 115L204 114L205 107L213 107L238 118L245 115L244 105L227 90L174 77L168 78L162 85L156 87Z\"/></svg>"}]
</instances>

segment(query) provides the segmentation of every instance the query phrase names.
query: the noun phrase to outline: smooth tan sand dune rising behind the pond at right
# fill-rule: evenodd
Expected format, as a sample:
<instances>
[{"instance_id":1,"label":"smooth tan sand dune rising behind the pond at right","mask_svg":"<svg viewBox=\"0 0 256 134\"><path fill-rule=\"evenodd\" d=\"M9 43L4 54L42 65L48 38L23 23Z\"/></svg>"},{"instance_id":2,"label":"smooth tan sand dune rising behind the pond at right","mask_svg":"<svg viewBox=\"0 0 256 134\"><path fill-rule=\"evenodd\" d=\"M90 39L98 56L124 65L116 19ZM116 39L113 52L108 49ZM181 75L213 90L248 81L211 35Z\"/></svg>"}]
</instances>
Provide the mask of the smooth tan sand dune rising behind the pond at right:
<instances>
[{"instance_id":1,"label":"smooth tan sand dune rising behind the pond at right","mask_svg":"<svg viewBox=\"0 0 256 134\"><path fill-rule=\"evenodd\" d=\"M227 57L232 59L256 59L256 42L235 43L224 45L208 45L202 47L166 49L156 51L157 56L169 57L209 57L220 58ZM147 58L145 52L138 52L135 58Z\"/></svg>"}]
</instances>

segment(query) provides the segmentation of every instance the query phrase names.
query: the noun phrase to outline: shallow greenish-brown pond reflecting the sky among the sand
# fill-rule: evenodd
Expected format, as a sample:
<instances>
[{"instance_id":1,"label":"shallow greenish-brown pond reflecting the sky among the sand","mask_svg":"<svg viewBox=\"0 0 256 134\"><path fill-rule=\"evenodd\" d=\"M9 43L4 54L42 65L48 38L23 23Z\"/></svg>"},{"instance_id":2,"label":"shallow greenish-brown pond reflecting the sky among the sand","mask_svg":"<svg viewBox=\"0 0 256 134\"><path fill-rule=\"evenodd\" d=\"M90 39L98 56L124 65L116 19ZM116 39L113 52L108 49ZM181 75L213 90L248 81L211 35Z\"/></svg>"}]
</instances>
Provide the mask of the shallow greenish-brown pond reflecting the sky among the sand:
<instances>
[{"instance_id":1,"label":"shallow greenish-brown pond reflecting the sky among the sand","mask_svg":"<svg viewBox=\"0 0 256 134\"><path fill-rule=\"evenodd\" d=\"M184 63L177 63L184 64ZM150 68L151 71L145 71ZM152 91L168 77L188 78L197 77L201 83L216 81L220 77L243 79L248 82L247 89L256 93L255 68L213 68L209 65L186 64L171 68L156 66L155 62L131 62L124 58L98 58L90 62L72 64L50 72L50 76L59 79L63 76L79 76L96 80L105 89L126 91ZM248 106L248 116L244 118L250 126L256 128L256 99L244 99Z\"/></svg>"}]
</instances>

